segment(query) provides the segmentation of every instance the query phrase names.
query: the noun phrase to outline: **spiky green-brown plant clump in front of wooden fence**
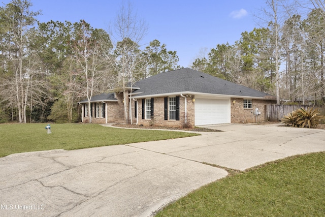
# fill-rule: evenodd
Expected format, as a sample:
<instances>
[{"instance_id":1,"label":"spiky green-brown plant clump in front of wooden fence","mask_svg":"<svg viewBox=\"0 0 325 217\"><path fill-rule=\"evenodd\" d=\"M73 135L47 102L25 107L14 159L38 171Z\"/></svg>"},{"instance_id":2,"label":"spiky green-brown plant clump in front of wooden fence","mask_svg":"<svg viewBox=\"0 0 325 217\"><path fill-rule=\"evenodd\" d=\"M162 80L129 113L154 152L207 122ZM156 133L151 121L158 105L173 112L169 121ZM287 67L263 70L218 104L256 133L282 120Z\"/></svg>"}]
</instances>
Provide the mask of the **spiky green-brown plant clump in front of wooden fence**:
<instances>
[{"instance_id":1,"label":"spiky green-brown plant clump in front of wooden fence","mask_svg":"<svg viewBox=\"0 0 325 217\"><path fill-rule=\"evenodd\" d=\"M314 108L300 108L285 115L281 122L286 126L299 128L315 128L324 116Z\"/></svg>"}]
</instances>

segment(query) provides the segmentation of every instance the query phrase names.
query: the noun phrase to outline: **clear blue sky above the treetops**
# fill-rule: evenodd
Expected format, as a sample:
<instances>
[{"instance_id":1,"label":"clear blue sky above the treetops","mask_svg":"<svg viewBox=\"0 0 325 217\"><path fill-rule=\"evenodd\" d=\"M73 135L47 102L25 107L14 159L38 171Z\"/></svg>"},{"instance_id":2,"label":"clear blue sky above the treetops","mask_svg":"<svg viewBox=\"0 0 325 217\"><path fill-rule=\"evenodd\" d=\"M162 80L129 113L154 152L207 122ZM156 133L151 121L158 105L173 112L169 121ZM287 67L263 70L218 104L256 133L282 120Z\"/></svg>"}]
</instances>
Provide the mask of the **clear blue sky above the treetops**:
<instances>
[{"instance_id":1,"label":"clear blue sky above the treetops","mask_svg":"<svg viewBox=\"0 0 325 217\"><path fill-rule=\"evenodd\" d=\"M3 0L4 4L10 1ZM119 12L122 0L31 0L33 10L41 10L38 19L71 22L84 19L94 28L108 32ZM250 32L256 24L253 16L265 2L261 0L131 0L138 16L148 24L143 46L157 39L175 50L179 65L189 67L200 49L217 44L234 44L240 34Z\"/></svg>"}]
</instances>

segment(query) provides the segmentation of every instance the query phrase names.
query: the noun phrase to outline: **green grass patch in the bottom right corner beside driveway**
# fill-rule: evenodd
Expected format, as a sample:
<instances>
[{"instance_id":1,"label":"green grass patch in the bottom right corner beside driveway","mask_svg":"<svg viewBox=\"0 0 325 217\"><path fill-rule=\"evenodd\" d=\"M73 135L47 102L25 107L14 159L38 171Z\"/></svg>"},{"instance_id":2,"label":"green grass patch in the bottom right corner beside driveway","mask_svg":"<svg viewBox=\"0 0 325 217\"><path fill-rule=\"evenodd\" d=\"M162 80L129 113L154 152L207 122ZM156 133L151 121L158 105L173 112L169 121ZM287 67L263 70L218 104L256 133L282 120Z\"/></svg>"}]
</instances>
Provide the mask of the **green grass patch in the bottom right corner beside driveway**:
<instances>
[{"instance_id":1,"label":"green grass patch in the bottom right corner beside driveway","mask_svg":"<svg viewBox=\"0 0 325 217\"><path fill-rule=\"evenodd\" d=\"M194 191L156 216L324 216L325 152L235 173Z\"/></svg>"}]
</instances>

